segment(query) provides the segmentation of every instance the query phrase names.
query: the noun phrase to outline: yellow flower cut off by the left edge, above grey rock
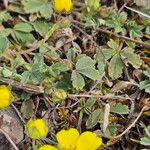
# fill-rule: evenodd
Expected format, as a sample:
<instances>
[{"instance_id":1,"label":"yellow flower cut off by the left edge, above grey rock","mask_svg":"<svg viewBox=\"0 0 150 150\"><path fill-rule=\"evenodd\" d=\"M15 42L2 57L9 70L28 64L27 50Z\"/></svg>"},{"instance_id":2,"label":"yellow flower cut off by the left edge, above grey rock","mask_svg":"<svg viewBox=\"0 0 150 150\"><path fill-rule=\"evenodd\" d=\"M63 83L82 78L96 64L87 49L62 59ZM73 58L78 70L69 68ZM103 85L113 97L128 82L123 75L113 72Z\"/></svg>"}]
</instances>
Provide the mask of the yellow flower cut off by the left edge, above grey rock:
<instances>
[{"instance_id":1,"label":"yellow flower cut off by the left edge, above grey rock","mask_svg":"<svg viewBox=\"0 0 150 150\"><path fill-rule=\"evenodd\" d=\"M6 108L11 103L11 92L5 85L0 86L0 109Z\"/></svg>"}]
</instances>

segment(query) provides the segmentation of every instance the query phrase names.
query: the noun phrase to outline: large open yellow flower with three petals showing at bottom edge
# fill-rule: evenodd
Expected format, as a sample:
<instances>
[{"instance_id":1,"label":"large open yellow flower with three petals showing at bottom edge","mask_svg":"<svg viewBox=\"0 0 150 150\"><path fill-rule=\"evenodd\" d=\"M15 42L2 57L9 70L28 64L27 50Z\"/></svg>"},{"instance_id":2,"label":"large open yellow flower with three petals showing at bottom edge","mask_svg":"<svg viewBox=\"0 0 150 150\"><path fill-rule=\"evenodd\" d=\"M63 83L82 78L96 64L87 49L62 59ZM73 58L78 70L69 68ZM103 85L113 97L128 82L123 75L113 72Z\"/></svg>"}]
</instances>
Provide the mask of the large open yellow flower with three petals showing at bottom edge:
<instances>
[{"instance_id":1,"label":"large open yellow flower with three petals showing at bottom edge","mask_svg":"<svg viewBox=\"0 0 150 150\"><path fill-rule=\"evenodd\" d=\"M103 145L102 138L95 133L86 131L79 135L77 129L61 130L56 134L60 150L97 150ZM51 145L45 145L39 150L59 150Z\"/></svg>"}]
</instances>

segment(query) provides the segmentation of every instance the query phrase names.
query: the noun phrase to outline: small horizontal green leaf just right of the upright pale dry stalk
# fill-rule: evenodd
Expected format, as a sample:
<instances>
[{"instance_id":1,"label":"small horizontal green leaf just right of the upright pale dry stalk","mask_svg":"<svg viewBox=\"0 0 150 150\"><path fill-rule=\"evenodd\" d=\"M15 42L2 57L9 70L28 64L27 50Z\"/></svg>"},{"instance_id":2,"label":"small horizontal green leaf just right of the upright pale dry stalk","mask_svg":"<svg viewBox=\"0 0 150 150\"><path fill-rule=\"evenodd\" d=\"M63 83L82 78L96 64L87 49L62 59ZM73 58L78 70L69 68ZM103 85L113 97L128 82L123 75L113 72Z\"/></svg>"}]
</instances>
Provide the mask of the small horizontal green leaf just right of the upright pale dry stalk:
<instances>
[{"instance_id":1,"label":"small horizontal green leaf just right of the upright pale dry stalk","mask_svg":"<svg viewBox=\"0 0 150 150\"><path fill-rule=\"evenodd\" d=\"M110 112L116 114L129 114L129 108L127 105L123 105L121 103L111 104L110 105Z\"/></svg>"}]
</instances>

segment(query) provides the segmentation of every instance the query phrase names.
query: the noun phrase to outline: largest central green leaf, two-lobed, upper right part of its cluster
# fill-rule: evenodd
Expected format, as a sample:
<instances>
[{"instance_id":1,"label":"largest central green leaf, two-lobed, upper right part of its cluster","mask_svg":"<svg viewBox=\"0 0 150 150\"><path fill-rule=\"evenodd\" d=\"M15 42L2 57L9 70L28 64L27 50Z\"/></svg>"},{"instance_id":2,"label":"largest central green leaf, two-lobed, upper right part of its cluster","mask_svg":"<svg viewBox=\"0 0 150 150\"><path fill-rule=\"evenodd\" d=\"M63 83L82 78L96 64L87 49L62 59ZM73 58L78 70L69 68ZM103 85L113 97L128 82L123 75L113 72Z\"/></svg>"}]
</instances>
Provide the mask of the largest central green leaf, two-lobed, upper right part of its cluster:
<instances>
[{"instance_id":1,"label":"largest central green leaf, two-lobed, upper right part of its cluster","mask_svg":"<svg viewBox=\"0 0 150 150\"><path fill-rule=\"evenodd\" d=\"M81 57L76 63L76 70L78 73L92 79L99 78L99 72L95 69L95 61L88 56Z\"/></svg>"}]
</instances>

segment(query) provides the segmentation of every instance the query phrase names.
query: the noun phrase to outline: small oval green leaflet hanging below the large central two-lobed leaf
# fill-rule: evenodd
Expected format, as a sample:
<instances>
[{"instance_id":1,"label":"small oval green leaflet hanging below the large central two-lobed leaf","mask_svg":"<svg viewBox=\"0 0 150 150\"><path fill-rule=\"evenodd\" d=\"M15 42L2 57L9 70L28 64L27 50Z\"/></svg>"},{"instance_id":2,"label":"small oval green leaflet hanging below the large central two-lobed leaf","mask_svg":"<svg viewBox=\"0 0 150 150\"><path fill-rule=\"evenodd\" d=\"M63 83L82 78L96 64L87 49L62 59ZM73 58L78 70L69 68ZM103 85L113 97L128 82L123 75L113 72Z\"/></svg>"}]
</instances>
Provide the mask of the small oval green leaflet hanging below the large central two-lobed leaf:
<instances>
[{"instance_id":1,"label":"small oval green leaflet hanging below the large central two-lobed leaf","mask_svg":"<svg viewBox=\"0 0 150 150\"><path fill-rule=\"evenodd\" d=\"M77 90L82 90L85 86L85 81L82 75L76 71L72 72L71 75L72 85Z\"/></svg>"}]
</instances>

